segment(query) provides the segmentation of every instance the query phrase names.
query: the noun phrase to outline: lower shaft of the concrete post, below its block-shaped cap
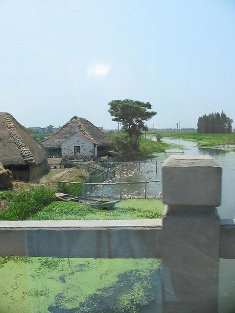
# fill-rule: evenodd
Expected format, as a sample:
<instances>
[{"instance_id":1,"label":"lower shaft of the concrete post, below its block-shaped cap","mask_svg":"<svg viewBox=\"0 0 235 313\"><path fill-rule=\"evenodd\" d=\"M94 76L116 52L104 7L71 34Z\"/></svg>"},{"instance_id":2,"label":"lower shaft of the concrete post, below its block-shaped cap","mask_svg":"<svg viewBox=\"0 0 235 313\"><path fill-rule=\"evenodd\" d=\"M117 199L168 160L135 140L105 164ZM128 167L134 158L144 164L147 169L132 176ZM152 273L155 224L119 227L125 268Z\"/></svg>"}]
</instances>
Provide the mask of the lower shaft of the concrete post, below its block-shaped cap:
<instances>
[{"instance_id":1,"label":"lower shaft of the concrete post, below its block-shaped cap","mask_svg":"<svg viewBox=\"0 0 235 313\"><path fill-rule=\"evenodd\" d=\"M219 218L213 209L206 209L204 214L178 211L163 220L163 312L216 313Z\"/></svg>"}]
</instances>

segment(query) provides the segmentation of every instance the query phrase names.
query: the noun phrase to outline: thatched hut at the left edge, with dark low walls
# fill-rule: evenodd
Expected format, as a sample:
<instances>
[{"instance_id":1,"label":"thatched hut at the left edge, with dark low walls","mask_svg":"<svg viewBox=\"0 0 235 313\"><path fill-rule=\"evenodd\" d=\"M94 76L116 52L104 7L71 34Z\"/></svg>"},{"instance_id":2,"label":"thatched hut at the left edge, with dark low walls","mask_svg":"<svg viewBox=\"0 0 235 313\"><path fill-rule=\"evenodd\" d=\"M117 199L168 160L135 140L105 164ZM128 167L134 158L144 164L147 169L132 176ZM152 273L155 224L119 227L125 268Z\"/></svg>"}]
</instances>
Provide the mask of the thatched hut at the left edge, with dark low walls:
<instances>
[{"instance_id":1,"label":"thatched hut at the left edge, with dark low walls","mask_svg":"<svg viewBox=\"0 0 235 313\"><path fill-rule=\"evenodd\" d=\"M17 179L34 179L48 171L45 148L5 112L0 112L0 161Z\"/></svg>"}]
</instances>

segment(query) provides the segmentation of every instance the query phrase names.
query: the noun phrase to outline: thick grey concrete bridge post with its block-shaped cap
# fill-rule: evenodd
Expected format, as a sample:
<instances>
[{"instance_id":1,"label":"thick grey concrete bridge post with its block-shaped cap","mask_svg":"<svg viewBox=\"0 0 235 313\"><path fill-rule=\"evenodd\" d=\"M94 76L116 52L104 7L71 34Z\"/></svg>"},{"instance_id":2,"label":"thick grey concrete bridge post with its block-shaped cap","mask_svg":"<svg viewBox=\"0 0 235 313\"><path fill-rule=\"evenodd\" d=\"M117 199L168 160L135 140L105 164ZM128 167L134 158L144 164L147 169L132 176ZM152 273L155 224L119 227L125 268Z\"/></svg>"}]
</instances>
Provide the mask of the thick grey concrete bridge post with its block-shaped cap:
<instances>
[{"instance_id":1,"label":"thick grey concrete bridge post with its block-shaped cap","mask_svg":"<svg viewBox=\"0 0 235 313\"><path fill-rule=\"evenodd\" d=\"M218 312L221 167L211 156L163 165L163 312Z\"/></svg>"}]
</instances>

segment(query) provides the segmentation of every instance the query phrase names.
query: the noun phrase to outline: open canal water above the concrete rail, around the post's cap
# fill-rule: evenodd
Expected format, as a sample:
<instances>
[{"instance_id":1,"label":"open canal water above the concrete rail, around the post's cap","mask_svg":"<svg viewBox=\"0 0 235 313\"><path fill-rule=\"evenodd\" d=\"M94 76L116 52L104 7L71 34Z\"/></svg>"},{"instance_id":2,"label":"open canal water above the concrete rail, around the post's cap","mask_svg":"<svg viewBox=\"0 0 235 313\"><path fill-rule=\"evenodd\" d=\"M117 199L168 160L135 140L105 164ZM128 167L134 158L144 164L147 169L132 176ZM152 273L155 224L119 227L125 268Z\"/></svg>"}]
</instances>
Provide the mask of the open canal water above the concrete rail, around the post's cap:
<instances>
[{"instance_id":1,"label":"open canal water above the concrete rail, around the post's cap","mask_svg":"<svg viewBox=\"0 0 235 313\"><path fill-rule=\"evenodd\" d=\"M154 139L154 138L153 138ZM227 152L223 149L214 148L200 148L197 147L196 142L192 141L182 141L180 139L170 139L164 138L165 142L184 145L185 155L210 155L212 156L223 169L222 174L222 201L220 207L218 207L218 212L221 218L235 218L235 197L234 197L234 186L235 186L235 153ZM166 150L167 156L174 155L176 152L180 154L181 150ZM159 159L156 169L156 161ZM114 166L116 178L111 182L120 181L120 173L122 175L122 181L144 181L146 180L161 180L162 179L162 165L165 160L164 154L159 154L152 157L151 159L146 159L146 163L139 164L134 162L127 162L118 164ZM150 162L148 164L147 162ZM151 163L153 162L153 163ZM114 164L115 165L115 164ZM145 184L123 184L122 185L122 197L123 198L135 198L144 197ZM147 184L146 196L147 198L157 198L159 193L162 192L162 183L153 182ZM90 194L90 193L89 193ZM119 185L108 185L102 186L98 185L92 189L92 196L107 196L109 198L119 198L120 197L120 186Z\"/></svg>"}]
</instances>

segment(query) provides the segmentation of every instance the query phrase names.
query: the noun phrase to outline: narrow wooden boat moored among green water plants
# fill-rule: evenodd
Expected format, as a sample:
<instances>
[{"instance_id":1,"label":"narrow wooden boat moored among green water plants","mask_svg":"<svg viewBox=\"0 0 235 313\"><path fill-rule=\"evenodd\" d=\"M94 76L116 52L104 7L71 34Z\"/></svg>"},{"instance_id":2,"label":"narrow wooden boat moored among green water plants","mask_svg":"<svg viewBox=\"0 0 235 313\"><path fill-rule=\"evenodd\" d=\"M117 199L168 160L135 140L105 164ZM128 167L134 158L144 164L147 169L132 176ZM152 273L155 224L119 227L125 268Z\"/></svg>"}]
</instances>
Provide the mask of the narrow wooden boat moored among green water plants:
<instances>
[{"instance_id":1,"label":"narrow wooden boat moored among green water plants","mask_svg":"<svg viewBox=\"0 0 235 313\"><path fill-rule=\"evenodd\" d=\"M57 193L55 197L57 200L60 200L60 201L76 202L76 203L94 206L94 207L101 208L101 209L110 209L116 203L119 202L119 200L106 201L106 200L100 200L100 199L76 197L72 195L63 194L61 192Z\"/></svg>"}]
</instances>

